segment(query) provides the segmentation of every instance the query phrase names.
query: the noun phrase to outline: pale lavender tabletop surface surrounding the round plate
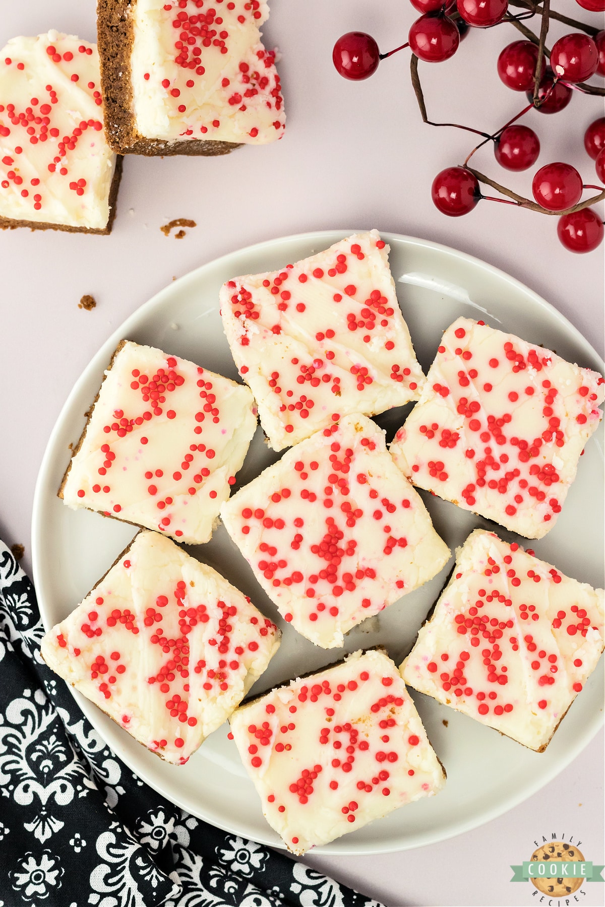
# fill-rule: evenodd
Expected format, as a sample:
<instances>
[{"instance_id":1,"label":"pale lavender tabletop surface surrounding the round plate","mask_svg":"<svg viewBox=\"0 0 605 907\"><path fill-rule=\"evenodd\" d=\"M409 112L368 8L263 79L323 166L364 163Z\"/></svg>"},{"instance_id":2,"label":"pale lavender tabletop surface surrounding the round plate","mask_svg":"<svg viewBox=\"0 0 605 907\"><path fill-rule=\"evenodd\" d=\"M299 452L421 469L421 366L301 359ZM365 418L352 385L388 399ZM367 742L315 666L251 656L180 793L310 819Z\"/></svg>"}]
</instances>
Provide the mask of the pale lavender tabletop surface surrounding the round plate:
<instances>
[{"instance_id":1,"label":"pale lavender tabletop surface surrounding the round plate","mask_svg":"<svg viewBox=\"0 0 605 907\"><path fill-rule=\"evenodd\" d=\"M602 26L602 16L573 0L553 5ZM94 6L94 0L0 0L0 44L49 28L94 40ZM464 161L472 135L422 124L405 51L381 63L367 82L346 83L334 70L331 51L340 34L368 31L381 50L390 50L405 41L413 7L406 0L272 0L271 7L265 36L283 54L288 126L282 141L216 159L128 158L110 237L0 234L0 536L24 543L27 570L36 473L75 379L141 303L172 278L232 249L344 225L434 239L521 279L602 356L603 247L571 255L556 239L555 218L490 202L463 219L444 218L431 203L431 182L445 166ZM553 27L552 34L562 33ZM472 32L452 60L421 63L429 115L488 131L510 119L524 95L504 88L495 62L518 36L506 24ZM523 122L542 142L540 165L568 161L595 182L582 136L600 115L600 99L575 93L556 116L527 116ZM489 146L473 160L478 170L531 195L531 172L503 171ZM195 219L198 227L181 241L166 239L161 224L179 217ZM93 312L77 307L85 293L97 300ZM602 766L601 735L550 785L483 828L405 853L311 853L307 863L389 907L540 902L531 883L509 882L509 864L529 859L534 839L552 832L574 835L587 859L604 861ZM585 883L578 897L587 907L600 904L602 886Z\"/></svg>"}]
</instances>

